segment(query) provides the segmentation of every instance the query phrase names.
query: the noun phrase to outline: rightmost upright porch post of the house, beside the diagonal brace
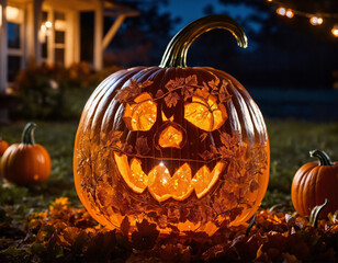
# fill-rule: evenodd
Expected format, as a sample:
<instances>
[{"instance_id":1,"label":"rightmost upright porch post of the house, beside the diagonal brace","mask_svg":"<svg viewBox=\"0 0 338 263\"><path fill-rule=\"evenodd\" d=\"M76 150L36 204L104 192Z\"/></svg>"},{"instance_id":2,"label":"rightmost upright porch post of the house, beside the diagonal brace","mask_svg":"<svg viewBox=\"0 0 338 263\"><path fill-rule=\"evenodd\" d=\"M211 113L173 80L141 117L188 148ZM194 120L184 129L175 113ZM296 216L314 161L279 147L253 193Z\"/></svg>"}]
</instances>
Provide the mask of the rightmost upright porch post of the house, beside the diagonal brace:
<instances>
[{"instance_id":1,"label":"rightmost upright porch post of the house, beside the diagonal brace","mask_svg":"<svg viewBox=\"0 0 338 263\"><path fill-rule=\"evenodd\" d=\"M103 2L98 1L95 9L95 26L94 26L94 52L93 52L93 67L95 70L102 69L102 39L103 39Z\"/></svg>"}]
</instances>

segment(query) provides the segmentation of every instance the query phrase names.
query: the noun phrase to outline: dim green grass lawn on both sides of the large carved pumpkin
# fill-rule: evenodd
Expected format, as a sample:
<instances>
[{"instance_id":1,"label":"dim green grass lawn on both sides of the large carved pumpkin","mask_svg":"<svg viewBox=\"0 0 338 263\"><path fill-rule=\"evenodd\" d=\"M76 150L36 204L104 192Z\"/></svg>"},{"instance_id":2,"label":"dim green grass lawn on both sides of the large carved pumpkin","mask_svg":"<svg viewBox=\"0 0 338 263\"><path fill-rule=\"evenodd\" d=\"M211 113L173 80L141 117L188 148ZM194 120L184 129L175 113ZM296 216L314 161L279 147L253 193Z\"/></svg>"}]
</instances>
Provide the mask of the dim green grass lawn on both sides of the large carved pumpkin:
<instances>
[{"instance_id":1,"label":"dim green grass lawn on both sides of the large carved pumpkin","mask_svg":"<svg viewBox=\"0 0 338 263\"><path fill-rule=\"evenodd\" d=\"M72 148L78 122L36 122L35 140L45 146L52 158L52 174L41 184L30 187L0 184L0 205L26 199L45 206L55 197L67 196L79 205L72 179ZM20 141L25 123L0 126L0 136L9 144ZM290 187L296 170L314 161L308 151L323 149L331 160L338 160L338 123L315 123L297 119L267 119L270 137L270 182L262 205L284 204L290 207ZM1 192L1 188L0 188ZM30 205L29 204L29 205Z\"/></svg>"}]
</instances>

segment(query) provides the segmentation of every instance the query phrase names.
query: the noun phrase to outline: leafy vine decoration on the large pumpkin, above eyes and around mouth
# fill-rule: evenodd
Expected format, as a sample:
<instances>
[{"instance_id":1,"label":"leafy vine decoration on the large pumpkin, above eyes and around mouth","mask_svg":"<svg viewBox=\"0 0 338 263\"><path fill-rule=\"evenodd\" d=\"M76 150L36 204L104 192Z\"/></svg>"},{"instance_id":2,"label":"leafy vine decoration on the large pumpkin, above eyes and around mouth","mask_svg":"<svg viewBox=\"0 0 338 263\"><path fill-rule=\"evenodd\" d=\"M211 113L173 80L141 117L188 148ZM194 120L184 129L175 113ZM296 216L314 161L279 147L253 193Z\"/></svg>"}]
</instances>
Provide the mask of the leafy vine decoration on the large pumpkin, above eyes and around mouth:
<instances>
[{"instance_id":1,"label":"leafy vine decoration on the large pumpkin, above eyes and around mouth","mask_svg":"<svg viewBox=\"0 0 338 263\"><path fill-rule=\"evenodd\" d=\"M150 84L153 81L138 83L132 79L128 85L117 91L115 100L121 103L131 102ZM206 82L201 82L196 75L176 78L159 87L156 95L151 94L151 100L162 100L161 103L172 108L183 104L180 100L189 102L192 96L209 100L210 95L213 95L215 103L225 104L232 100L227 91L229 84L232 83L221 81L216 77ZM81 150L77 152L78 173L81 174L81 187L91 206L101 209L106 220L114 218L115 214L124 218L116 227L124 233L134 231L134 240L137 240L135 242L145 238L140 230L143 226L149 228L154 237L157 236L155 224L173 232L179 231L177 224L187 221L195 225L212 221L219 226L219 216L229 222L240 216L245 208L254 205L252 201L247 198L247 194L259 190L259 176L263 174L268 164L263 144L247 145L236 130L228 134L219 128L212 133L201 133L198 138L205 144L210 144L211 138L217 136L219 145L210 145L210 149L202 153L196 152L196 156L199 161L205 164L218 161L225 164L218 182L203 197L202 205L196 205L194 197L185 199L184 204L168 199L167 204L159 207L147 190L142 194L132 193L128 186L121 182L117 173L112 172L116 171L112 152L126 155L128 161L134 157L155 158L147 156L150 147L146 136L138 135L135 144L128 145L122 135L122 132L115 130L104 136L99 135L98 139L91 133L84 132L80 142ZM139 220L142 217L147 220L132 226L133 220ZM154 237L150 235L146 238L153 240ZM145 249L148 248L146 243L143 245Z\"/></svg>"}]
</instances>

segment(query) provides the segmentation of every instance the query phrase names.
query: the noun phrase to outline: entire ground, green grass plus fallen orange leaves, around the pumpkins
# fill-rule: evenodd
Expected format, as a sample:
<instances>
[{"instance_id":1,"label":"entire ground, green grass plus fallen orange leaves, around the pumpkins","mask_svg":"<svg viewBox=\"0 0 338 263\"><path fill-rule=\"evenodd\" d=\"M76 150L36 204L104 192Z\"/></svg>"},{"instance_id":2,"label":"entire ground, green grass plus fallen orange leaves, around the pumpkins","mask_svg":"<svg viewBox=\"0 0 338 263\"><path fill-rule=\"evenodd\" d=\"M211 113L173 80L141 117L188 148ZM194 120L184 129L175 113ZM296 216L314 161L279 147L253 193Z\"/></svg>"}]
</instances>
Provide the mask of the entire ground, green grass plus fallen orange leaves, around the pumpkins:
<instances>
[{"instance_id":1,"label":"entire ground, green grass plus fallen orange leaves, around the pumpkins","mask_svg":"<svg viewBox=\"0 0 338 263\"><path fill-rule=\"evenodd\" d=\"M18 142L24 125L0 126L0 135ZM338 160L338 123L268 119L270 182L256 225L249 230L224 226L211 238L161 236L147 221L131 237L125 235L127 220L113 231L102 228L82 208L74 187L77 123L37 125L36 142L52 157L52 174L29 187L0 180L0 262L338 262L337 215L315 228L295 214L290 198L295 171L313 161L309 150L323 149Z\"/></svg>"}]
</instances>

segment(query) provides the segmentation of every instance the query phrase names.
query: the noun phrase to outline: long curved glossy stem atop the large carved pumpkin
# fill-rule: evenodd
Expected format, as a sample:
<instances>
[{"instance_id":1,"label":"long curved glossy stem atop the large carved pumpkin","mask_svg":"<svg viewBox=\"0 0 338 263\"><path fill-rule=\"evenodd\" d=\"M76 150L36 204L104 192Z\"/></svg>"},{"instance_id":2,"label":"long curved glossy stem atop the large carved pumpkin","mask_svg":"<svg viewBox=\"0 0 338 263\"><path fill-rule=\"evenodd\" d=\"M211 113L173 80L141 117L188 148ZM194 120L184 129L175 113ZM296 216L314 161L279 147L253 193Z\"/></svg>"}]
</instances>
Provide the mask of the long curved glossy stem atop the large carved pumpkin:
<instances>
[{"instance_id":1,"label":"long curved glossy stem atop the large carved pumpkin","mask_svg":"<svg viewBox=\"0 0 338 263\"><path fill-rule=\"evenodd\" d=\"M248 46L247 36L237 22L223 14L207 15L190 23L172 37L159 67L187 67L190 45L203 33L215 28L229 31L237 39L238 46L243 48Z\"/></svg>"}]
</instances>

